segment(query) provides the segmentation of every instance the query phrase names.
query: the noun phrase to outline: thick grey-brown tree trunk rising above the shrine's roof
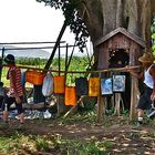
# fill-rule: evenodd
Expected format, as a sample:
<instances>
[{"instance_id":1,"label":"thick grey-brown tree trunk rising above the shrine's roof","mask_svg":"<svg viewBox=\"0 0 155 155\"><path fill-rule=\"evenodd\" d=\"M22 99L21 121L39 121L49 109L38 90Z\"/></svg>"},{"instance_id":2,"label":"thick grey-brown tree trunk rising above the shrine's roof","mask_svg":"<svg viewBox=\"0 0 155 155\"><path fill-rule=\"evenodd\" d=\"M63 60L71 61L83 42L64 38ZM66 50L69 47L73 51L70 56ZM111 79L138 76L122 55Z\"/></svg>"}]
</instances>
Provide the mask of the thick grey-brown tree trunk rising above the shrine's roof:
<instances>
[{"instance_id":1,"label":"thick grey-brown tree trunk rising above the shrine's roof","mask_svg":"<svg viewBox=\"0 0 155 155\"><path fill-rule=\"evenodd\" d=\"M83 0L79 11L93 43L117 27L123 27L144 39L149 49L155 0Z\"/></svg>"}]
</instances>

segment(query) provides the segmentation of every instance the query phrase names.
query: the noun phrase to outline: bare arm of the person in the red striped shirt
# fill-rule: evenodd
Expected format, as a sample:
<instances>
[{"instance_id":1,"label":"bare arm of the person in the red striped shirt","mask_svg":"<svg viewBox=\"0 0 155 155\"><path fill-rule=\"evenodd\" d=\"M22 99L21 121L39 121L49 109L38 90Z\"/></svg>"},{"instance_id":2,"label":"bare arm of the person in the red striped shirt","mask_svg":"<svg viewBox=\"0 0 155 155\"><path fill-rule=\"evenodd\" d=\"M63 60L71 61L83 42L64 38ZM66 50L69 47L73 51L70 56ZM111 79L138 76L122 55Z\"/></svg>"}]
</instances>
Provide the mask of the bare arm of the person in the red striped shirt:
<instances>
[{"instance_id":1,"label":"bare arm of the person in the red striped shirt","mask_svg":"<svg viewBox=\"0 0 155 155\"><path fill-rule=\"evenodd\" d=\"M11 84L12 84L12 86L13 86L13 90L14 90L16 101L17 101L17 103L20 103L21 100L20 100L20 97L19 97L19 95L18 95L17 83L16 83L16 71L12 70L12 71L10 72L10 74L11 74L11 76L10 76L10 82L11 82Z\"/></svg>"}]
</instances>

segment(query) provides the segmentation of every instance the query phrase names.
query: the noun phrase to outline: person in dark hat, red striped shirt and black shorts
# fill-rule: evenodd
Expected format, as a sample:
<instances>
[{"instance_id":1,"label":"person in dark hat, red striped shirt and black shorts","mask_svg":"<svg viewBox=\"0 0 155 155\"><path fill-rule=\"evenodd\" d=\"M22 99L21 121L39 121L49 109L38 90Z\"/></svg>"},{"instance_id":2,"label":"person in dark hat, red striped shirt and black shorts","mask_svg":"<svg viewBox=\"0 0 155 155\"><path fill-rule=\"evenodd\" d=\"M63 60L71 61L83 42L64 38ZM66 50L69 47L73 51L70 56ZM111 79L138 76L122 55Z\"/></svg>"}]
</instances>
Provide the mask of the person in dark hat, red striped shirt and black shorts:
<instances>
[{"instance_id":1,"label":"person in dark hat, red striped shirt and black shorts","mask_svg":"<svg viewBox=\"0 0 155 155\"><path fill-rule=\"evenodd\" d=\"M8 64L9 70L7 74L7 79L10 80L10 87L7 92L7 95L2 103L3 111L3 126L8 125L8 116L11 104L16 103L16 107L18 110L18 114L20 115L20 126L24 123L24 111L22 108L23 102L23 87L21 83L21 71L16 65L16 60L12 54L8 54L4 58L4 62Z\"/></svg>"}]
</instances>

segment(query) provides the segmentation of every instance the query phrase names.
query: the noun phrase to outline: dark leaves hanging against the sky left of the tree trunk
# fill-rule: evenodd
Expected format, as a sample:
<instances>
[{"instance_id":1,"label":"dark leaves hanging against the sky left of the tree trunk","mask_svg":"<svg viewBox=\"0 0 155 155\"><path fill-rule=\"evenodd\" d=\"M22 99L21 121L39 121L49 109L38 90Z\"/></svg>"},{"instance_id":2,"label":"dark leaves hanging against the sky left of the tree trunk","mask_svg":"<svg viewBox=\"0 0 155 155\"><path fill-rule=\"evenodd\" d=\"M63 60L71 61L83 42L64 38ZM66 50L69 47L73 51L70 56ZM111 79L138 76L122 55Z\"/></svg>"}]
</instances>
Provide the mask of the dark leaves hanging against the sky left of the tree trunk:
<instances>
[{"instance_id":1,"label":"dark leaves hanging against the sky left of the tree trunk","mask_svg":"<svg viewBox=\"0 0 155 155\"><path fill-rule=\"evenodd\" d=\"M55 9L61 9L65 18L66 25L70 25L71 31L75 34L76 45L83 52L86 39L89 37L87 29L79 16L78 8L81 0L37 0L38 2L44 2L45 6L51 6Z\"/></svg>"}]
</instances>

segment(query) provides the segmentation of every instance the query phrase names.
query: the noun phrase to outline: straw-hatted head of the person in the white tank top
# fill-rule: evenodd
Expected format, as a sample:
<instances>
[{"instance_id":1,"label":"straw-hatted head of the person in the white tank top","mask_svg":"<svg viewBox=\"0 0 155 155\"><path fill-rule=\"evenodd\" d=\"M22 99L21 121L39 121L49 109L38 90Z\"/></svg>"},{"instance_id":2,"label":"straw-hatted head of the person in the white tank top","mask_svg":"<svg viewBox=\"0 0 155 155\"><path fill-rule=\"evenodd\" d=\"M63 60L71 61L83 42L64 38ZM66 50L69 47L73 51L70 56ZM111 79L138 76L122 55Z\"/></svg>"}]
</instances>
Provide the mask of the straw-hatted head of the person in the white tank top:
<instances>
[{"instance_id":1,"label":"straw-hatted head of the person in the white tank top","mask_svg":"<svg viewBox=\"0 0 155 155\"><path fill-rule=\"evenodd\" d=\"M143 66L149 66L154 63L155 56L152 52L145 52L142 56L138 58L138 61L142 63Z\"/></svg>"}]
</instances>

